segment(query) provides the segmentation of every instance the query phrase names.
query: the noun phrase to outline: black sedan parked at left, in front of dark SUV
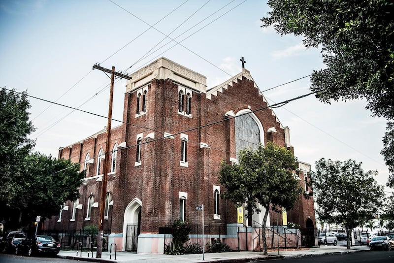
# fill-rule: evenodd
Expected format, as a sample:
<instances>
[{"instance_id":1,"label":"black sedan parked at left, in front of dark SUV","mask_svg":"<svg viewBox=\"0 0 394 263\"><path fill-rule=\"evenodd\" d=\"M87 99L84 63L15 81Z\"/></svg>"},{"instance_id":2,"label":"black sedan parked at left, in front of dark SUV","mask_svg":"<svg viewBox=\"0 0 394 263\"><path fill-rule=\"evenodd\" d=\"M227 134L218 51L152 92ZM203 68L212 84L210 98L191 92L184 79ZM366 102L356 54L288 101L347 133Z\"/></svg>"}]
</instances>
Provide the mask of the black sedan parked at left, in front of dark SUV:
<instances>
[{"instance_id":1,"label":"black sedan parked at left, in front of dark SUV","mask_svg":"<svg viewBox=\"0 0 394 263\"><path fill-rule=\"evenodd\" d=\"M32 235L23 240L15 249L15 254L28 254L34 256L40 253L57 255L60 251L60 243L48 235Z\"/></svg>"}]
</instances>

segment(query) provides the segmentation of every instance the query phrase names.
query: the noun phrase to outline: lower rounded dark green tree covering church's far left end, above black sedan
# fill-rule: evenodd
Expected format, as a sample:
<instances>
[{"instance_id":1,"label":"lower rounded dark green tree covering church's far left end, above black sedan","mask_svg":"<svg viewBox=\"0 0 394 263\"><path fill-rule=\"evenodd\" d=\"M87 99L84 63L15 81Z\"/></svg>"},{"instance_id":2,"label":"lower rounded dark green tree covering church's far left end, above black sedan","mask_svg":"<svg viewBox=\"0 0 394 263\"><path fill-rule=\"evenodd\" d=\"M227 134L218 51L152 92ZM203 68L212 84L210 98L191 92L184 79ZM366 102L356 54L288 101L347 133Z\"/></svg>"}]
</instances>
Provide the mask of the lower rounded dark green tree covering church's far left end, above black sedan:
<instances>
[{"instance_id":1,"label":"lower rounded dark green tree covering church's far left end, above black sedan","mask_svg":"<svg viewBox=\"0 0 394 263\"><path fill-rule=\"evenodd\" d=\"M5 207L8 229L34 222L37 215L42 218L57 215L66 200L75 201L79 197L78 188L85 174L79 171L79 164L40 153L29 155L24 162L22 176L14 182L20 189Z\"/></svg>"}]
</instances>

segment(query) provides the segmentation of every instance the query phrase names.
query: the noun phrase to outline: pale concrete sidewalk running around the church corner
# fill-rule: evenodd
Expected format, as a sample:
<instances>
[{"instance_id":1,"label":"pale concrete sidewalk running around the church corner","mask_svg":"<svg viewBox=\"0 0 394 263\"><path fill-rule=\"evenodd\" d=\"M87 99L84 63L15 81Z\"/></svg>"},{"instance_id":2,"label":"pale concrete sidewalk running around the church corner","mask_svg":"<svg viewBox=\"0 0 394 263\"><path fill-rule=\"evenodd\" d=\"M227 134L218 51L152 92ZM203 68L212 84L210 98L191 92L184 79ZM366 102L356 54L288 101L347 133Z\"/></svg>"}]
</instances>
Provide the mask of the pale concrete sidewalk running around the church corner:
<instances>
[{"instance_id":1,"label":"pale concrete sidewalk running around the church corner","mask_svg":"<svg viewBox=\"0 0 394 263\"><path fill-rule=\"evenodd\" d=\"M325 254L336 254L336 253L351 253L358 251L369 250L367 246L353 246L350 250L346 247L326 245L317 248L302 249L302 250L288 250L288 251L268 251L268 256L263 256L262 252L225 252L225 253L205 253L204 260L202 260L202 254L189 254L189 255L163 255L163 254L136 254L132 252L117 252L116 260L115 253L111 255L109 259L109 252L102 252L101 259L96 259L96 253L92 258L92 253L80 252L78 256L76 251L61 250L58 257L70 260L89 261L89 262L101 262L101 263L136 263L136 262L152 262L152 263L198 263L198 262L214 262L214 263L226 263L226 262L250 262L254 260L267 260L267 259L281 259L281 258L293 258L293 257L305 257L305 256L317 256Z\"/></svg>"}]
</instances>

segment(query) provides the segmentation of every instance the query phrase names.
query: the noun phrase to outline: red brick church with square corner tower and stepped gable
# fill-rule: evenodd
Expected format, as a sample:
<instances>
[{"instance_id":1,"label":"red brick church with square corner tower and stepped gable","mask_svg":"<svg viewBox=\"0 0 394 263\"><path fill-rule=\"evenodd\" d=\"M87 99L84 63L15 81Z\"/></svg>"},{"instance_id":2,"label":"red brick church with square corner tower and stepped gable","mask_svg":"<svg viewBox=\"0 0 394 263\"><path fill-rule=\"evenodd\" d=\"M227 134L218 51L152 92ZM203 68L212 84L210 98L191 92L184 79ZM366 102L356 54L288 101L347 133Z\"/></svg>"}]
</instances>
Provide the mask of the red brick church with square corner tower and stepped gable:
<instances>
[{"instance_id":1,"label":"red brick church with square corner tower and stepped gable","mask_svg":"<svg viewBox=\"0 0 394 263\"><path fill-rule=\"evenodd\" d=\"M109 142L112 156L104 211L108 244L128 250L127 226L134 225L138 253L163 253L159 228L176 219L201 224L201 212L196 211L201 204L205 225L237 224L237 209L220 198L221 161L235 161L239 149L267 141L293 151L289 128L271 108L264 108L267 105L245 68L210 89L205 76L164 57L131 74L123 124L112 128ZM98 225L105 144L104 129L60 148L59 158L80 163L86 178L80 198L67 201L59 215L44 222L44 229ZM299 162L299 167L301 172L294 176L310 191L310 165ZM261 224L263 213L253 215L253 221ZM290 222L316 228L313 197L300 197L294 209L279 216L270 211L267 226Z\"/></svg>"}]
</instances>

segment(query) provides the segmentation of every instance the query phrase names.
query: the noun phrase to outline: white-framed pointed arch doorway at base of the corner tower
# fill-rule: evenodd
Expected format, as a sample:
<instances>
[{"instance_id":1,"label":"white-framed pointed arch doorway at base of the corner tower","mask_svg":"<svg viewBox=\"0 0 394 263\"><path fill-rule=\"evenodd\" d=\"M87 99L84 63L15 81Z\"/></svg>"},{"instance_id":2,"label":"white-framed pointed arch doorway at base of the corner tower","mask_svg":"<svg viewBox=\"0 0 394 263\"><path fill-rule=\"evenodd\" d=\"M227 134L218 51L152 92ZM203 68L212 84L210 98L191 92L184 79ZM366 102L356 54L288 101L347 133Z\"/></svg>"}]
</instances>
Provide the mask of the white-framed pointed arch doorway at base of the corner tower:
<instances>
[{"instance_id":1,"label":"white-framed pointed arch doorway at base of the corner tower","mask_svg":"<svg viewBox=\"0 0 394 263\"><path fill-rule=\"evenodd\" d=\"M126 207L123 227L123 250L137 252L141 229L141 201L133 199Z\"/></svg>"}]
</instances>

